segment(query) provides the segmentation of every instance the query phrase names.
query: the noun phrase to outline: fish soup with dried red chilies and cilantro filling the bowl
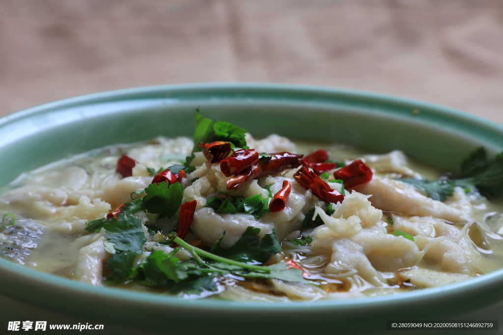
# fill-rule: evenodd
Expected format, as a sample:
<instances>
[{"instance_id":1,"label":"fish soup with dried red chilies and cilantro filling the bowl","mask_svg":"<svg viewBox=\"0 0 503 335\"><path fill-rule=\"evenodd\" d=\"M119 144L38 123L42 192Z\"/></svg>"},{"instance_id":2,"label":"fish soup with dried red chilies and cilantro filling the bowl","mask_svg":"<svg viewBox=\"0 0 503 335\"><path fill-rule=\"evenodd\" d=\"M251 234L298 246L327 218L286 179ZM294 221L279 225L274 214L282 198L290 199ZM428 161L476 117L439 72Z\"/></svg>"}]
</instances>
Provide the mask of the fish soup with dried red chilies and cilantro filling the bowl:
<instances>
[{"instance_id":1,"label":"fish soup with dried red chilies and cilantro filling the bowl","mask_svg":"<svg viewBox=\"0 0 503 335\"><path fill-rule=\"evenodd\" d=\"M502 206L466 183L399 151L246 144L256 151L207 145L184 165L193 141L157 138L25 173L0 197L0 254L93 285L256 301L393 294L503 267Z\"/></svg>"}]
</instances>

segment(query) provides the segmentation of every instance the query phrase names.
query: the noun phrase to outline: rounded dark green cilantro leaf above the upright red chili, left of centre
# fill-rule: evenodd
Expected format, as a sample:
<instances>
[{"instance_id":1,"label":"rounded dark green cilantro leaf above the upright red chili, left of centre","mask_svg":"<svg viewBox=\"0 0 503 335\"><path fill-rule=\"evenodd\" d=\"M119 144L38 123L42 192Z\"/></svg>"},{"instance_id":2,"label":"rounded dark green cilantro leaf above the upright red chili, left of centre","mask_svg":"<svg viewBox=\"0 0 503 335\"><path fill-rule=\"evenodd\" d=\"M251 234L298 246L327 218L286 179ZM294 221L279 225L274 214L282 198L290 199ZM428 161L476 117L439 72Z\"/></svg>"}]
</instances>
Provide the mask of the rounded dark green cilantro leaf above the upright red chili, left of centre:
<instances>
[{"instance_id":1,"label":"rounded dark green cilantro leaf above the upright red chili, left of centre","mask_svg":"<svg viewBox=\"0 0 503 335\"><path fill-rule=\"evenodd\" d=\"M168 185L163 181L158 185L153 183L145 188L143 208L151 213L162 213L173 216L180 208L184 197L184 188L179 182Z\"/></svg>"}]
</instances>

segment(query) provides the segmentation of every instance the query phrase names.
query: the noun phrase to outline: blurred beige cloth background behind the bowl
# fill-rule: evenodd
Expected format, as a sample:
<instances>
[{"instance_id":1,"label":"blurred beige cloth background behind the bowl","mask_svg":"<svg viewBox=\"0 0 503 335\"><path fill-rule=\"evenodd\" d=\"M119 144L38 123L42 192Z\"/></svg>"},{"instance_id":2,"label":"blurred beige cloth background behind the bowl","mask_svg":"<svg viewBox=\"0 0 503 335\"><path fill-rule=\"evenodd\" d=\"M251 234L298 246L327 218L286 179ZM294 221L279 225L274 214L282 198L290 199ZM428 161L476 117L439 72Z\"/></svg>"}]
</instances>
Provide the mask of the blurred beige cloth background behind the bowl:
<instances>
[{"instance_id":1,"label":"blurred beige cloth background behind the bowl","mask_svg":"<svg viewBox=\"0 0 503 335\"><path fill-rule=\"evenodd\" d=\"M503 123L503 2L0 0L0 115L211 81L371 90Z\"/></svg>"}]
</instances>

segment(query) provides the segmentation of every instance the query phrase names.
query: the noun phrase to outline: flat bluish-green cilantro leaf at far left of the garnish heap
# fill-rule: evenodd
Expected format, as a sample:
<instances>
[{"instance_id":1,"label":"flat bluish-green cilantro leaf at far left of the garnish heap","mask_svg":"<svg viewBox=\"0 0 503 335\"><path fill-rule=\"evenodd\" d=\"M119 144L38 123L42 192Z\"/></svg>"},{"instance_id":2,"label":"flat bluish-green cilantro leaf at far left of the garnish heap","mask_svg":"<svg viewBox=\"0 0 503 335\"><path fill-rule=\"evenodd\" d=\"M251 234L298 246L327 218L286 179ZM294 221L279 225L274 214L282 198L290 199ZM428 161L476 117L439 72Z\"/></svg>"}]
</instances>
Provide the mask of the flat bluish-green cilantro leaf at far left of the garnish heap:
<instances>
[{"instance_id":1,"label":"flat bluish-green cilantro leaf at far left of the garnish heap","mask_svg":"<svg viewBox=\"0 0 503 335\"><path fill-rule=\"evenodd\" d=\"M143 252L143 244L147 242L142 229L141 219L130 213L118 213L103 225L105 239L113 243L117 251Z\"/></svg>"}]
</instances>

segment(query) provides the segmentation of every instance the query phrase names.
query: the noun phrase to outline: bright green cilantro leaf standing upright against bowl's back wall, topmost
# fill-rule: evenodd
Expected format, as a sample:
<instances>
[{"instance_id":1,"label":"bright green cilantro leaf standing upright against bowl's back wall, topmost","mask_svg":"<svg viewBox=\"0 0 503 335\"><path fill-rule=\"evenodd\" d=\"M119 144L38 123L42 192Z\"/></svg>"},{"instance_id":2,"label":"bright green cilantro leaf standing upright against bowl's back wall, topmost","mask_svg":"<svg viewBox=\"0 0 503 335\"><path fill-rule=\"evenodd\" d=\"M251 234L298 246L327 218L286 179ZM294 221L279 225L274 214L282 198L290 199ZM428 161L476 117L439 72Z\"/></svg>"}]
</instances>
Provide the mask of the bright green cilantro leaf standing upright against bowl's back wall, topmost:
<instances>
[{"instance_id":1,"label":"bright green cilantro leaf standing upright against bowl's back wall, topmost","mask_svg":"<svg viewBox=\"0 0 503 335\"><path fill-rule=\"evenodd\" d=\"M199 143L208 143L214 141L230 142L236 147L247 148L244 139L245 129L234 126L224 121L213 121L203 117L199 108L195 111L196 130L194 132L193 152L203 151Z\"/></svg>"}]
</instances>

